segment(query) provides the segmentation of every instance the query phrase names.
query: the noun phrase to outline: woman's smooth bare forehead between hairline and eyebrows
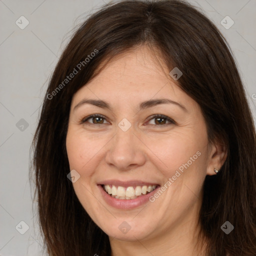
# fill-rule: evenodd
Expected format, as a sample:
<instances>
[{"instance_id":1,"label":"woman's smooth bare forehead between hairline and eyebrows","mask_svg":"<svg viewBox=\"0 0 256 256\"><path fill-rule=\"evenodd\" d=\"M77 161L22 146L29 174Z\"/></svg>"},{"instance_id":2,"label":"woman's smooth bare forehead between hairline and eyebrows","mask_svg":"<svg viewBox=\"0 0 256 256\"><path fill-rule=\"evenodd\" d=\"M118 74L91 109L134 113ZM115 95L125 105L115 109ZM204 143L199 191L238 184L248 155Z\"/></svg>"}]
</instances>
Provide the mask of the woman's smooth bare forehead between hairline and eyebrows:
<instances>
[{"instance_id":1,"label":"woman's smooth bare forehead between hairline and eyebrows","mask_svg":"<svg viewBox=\"0 0 256 256\"><path fill-rule=\"evenodd\" d=\"M97 76L73 96L74 102L83 97L125 103L151 98L184 101L192 107L192 99L169 76L169 70L158 51L140 46L112 58Z\"/></svg>"}]
</instances>

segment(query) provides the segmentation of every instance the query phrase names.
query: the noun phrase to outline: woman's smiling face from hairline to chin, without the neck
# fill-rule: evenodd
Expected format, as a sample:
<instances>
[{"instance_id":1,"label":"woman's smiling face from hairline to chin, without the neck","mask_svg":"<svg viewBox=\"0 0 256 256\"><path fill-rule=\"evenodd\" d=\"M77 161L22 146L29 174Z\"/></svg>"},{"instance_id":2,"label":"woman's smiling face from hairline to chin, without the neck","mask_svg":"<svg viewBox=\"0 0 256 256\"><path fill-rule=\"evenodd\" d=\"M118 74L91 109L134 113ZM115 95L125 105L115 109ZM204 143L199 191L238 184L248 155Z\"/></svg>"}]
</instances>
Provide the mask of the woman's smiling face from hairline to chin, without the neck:
<instances>
[{"instance_id":1,"label":"woman's smiling face from hairline to chin, without the neck","mask_svg":"<svg viewBox=\"0 0 256 256\"><path fill-rule=\"evenodd\" d=\"M146 46L118 55L71 102L74 191L93 221L121 240L187 232L205 175L219 167L199 105L161 65Z\"/></svg>"}]
</instances>

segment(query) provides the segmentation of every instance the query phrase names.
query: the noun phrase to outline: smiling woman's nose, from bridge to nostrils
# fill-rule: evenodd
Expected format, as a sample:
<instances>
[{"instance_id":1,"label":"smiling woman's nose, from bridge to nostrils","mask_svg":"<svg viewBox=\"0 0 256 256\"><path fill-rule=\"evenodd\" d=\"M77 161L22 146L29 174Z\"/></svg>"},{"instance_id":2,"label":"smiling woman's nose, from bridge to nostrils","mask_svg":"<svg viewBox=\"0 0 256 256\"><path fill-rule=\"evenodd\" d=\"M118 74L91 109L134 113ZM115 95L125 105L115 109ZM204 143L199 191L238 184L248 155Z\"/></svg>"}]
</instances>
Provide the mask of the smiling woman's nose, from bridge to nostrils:
<instances>
[{"instance_id":1,"label":"smiling woman's nose, from bridge to nostrils","mask_svg":"<svg viewBox=\"0 0 256 256\"><path fill-rule=\"evenodd\" d=\"M145 163L145 145L135 135L132 126L123 131L117 127L115 136L109 141L105 161L118 170L129 170Z\"/></svg>"}]
</instances>

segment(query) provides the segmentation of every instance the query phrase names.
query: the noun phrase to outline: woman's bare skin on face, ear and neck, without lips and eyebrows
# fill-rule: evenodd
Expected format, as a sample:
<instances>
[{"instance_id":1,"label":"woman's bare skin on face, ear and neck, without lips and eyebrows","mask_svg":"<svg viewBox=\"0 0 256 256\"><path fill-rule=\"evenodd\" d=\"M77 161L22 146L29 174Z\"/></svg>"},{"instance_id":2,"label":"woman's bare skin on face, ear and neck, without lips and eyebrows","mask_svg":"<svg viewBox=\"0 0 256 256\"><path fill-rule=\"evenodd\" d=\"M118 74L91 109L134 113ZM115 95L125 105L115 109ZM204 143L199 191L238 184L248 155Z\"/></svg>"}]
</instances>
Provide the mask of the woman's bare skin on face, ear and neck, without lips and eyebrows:
<instances>
[{"instance_id":1,"label":"woman's bare skin on face, ear and neck, without lips and eyebrows","mask_svg":"<svg viewBox=\"0 0 256 256\"><path fill-rule=\"evenodd\" d=\"M155 51L156 52L156 51ZM169 69L147 46L139 46L111 60L72 98L66 149L70 170L80 178L74 191L93 221L109 236L112 255L204 255L199 240L198 213L205 176L214 175L226 157L219 143L209 144L199 105L169 76ZM158 59L158 61L156 61ZM111 110L81 104L101 99ZM182 104L158 104L139 111L142 101L168 98ZM101 114L105 119L88 119ZM174 120L150 116L163 114ZM118 123L126 118L131 127ZM165 123L165 124L164 124ZM140 179L164 185L196 152L200 156L184 169L155 201L129 210L109 206L97 183L104 179ZM127 233L118 226L126 221Z\"/></svg>"}]
</instances>

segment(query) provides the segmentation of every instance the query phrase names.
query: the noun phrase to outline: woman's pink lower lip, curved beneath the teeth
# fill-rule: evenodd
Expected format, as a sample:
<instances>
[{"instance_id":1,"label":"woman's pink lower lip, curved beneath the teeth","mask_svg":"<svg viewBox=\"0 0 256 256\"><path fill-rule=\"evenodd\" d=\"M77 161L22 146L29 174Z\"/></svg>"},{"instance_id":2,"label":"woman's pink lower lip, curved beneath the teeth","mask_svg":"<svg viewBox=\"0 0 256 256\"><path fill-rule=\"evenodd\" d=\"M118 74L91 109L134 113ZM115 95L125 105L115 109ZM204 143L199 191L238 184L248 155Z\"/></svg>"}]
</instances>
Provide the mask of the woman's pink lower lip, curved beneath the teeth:
<instances>
[{"instance_id":1,"label":"woman's pink lower lip, curved beneath the teeth","mask_svg":"<svg viewBox=\"0 0 256 256\"><path fill-rule=\"evenodd\" d=\"M111 195L109 195L108 193L106 193L106 191L103 189L103 187L101 185L98 185L98 187L99 187L99 190L100 190L104 200L110 206L118 208L118 209L133 209L133 208L136 208L136 207L138 207L138 206L148 202L149 201L149 197L153 193L155 193L155 191L158 188L158 186L157 186L150 193L147 193L147 194L144 194L144 195L140 195L140 196L138 196L135 199L116 199L116 198L112 197Z\"/></svg>"}]
</instances>

